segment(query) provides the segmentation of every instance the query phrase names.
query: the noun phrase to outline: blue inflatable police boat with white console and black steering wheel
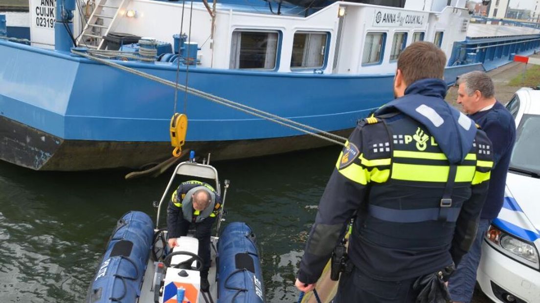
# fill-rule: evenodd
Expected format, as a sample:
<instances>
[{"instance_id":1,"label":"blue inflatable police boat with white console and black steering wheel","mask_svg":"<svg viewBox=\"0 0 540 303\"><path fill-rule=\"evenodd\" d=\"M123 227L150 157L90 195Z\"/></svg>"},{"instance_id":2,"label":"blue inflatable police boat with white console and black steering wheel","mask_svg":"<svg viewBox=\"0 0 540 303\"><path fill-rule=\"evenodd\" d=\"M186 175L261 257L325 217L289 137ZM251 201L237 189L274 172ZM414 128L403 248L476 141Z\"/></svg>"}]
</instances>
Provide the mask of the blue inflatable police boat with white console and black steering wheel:
<instances>
[{"instance_id":1,"label":"blue inflatable police boat with white console and black steering wheel","mask_svg":"<svg viewBox=\"0 0 540 303\"><path fill-rule=\"evenodd\" d=\"M210 291L200 290L201 259L198 239L190 233L178 239L178 246L168 249L166 228L159 228L160 211L168 202L170 189L177 176L190 176L215 181L221 195L217 170L209 164L187 161L178 164L165 189L156 225L144 212L130 211L119 219L106 245L103 259L96 270L86 295L88 303L214 303L264 302L257 241L246 223L230 223L220 237L211 238L212 265L208 274ZM206 180L204 180L206 181ZM228 188L225 180L225 194ZM165 205L163 205L165 203ZM223 209L218 218L219 233Z\"/></svg>"}]
</instances>

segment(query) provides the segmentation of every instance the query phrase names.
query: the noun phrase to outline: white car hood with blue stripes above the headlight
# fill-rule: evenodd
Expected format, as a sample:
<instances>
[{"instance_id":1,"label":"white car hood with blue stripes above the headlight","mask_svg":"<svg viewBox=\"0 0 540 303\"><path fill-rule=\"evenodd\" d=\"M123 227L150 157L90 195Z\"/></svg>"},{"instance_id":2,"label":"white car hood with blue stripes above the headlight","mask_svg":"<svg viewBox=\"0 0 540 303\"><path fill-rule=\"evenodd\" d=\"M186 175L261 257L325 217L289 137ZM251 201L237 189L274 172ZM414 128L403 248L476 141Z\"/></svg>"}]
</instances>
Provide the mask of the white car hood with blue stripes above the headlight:
<instances>
[{"instance_id":1,"label":"white car hood with blue stripes above the headlight","mask_svg":"<svg viewBox=\"0 0 540 303\"><path fill-rule=\"evenodd\" d=\"M504 205L497 225L531 242L540 238L540 179L508 173Z\"/></svg>"}]
</instances>

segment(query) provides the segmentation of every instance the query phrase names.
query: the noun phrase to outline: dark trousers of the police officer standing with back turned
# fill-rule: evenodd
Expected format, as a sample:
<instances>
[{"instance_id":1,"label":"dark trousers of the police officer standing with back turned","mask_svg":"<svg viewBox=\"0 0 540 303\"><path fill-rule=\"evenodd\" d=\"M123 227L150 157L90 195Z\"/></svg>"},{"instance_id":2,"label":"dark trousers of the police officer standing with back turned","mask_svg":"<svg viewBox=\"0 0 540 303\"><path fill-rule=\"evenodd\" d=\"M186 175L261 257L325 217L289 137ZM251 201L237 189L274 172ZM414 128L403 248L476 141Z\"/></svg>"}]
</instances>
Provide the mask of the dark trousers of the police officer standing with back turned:
<instances>
[{"instance_id":1,"label":"dark trousers of the police officer standing with back turned","mask_svg":"<svg viewBox=\"0 0 540 303\"><path fill-rule=\"evenodd\" d=\"M334 303L414 303L418 295L413 290L415 280L376 280L354 267L350 273L341 273Z\"/></svg>"}]
</instances>

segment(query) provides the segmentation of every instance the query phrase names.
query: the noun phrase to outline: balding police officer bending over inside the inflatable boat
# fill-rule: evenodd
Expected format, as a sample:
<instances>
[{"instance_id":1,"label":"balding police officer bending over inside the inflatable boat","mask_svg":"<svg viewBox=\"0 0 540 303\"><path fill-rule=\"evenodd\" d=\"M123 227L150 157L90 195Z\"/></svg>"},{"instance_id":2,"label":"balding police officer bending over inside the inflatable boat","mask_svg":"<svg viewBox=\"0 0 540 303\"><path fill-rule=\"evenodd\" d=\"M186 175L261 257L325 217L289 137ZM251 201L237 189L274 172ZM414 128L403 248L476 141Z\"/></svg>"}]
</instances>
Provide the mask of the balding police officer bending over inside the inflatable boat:
<instances>
[{"instance_id":1,"label":"balding police officer bending over inside the inflatable boat","mask_svg":"<svg viewBox=\"0 0 540 303\"><path fill-rule=\"evenodd\" d=\"M195 238L199 240L201 268L201 290L208 291L210 269L210 236L212 224L219 214L221 198L211 185L200 181L181 183L173 192L167 208L168 244L177 245L177 238L186 236L190 225L195 226Z\"/></svg>"}]
</instances>

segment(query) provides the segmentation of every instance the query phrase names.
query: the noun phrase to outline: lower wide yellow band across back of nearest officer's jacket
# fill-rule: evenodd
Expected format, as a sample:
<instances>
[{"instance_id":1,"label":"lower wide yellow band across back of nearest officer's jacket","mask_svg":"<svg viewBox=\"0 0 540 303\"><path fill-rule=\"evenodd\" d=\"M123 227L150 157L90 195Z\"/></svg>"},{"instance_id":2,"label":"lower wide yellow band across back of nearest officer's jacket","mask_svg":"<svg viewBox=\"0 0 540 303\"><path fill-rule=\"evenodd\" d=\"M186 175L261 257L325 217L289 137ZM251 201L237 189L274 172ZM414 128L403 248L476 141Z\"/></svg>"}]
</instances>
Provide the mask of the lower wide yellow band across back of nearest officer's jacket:
<instances>
[{"instance_id":1,"label":"lower wide yellow band across back of nearest officer's jacket","mask_svg":"<svg viewBox=\"0 0 540 303\"><path fill-rule=\"evenodd\" d=\"M392 178L420 182L446 182L449 170L448 166L394 163ZM475 166L458 166L455 181L470 182L473 180L475 170Z\"/></svg>"}]
</instances>

